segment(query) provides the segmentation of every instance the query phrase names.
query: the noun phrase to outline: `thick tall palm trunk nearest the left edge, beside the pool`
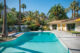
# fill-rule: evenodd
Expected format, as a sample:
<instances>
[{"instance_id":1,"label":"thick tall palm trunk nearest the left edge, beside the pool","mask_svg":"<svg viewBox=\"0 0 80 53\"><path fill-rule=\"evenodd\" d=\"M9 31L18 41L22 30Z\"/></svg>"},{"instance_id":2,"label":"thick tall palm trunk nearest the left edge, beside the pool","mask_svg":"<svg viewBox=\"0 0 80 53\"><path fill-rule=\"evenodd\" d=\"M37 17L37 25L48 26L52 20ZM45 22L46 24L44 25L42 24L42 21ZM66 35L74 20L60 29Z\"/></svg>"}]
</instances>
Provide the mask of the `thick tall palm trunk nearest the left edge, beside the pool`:
<instances>
[{"instance_id":1,"label":"thick tall palm trunk nearest the left edge, beside the pool","mask_svg":"<svg viewBox=\"0 0 80 53\"><path fill-rule=\"evenodd\" d=\"M2 36L7 37L8 36L8 29L7 29L7 17L6 17L6 0L4 0L4 17L3 17L3 30L2 30Z\"/></svg>"}]
</instances>

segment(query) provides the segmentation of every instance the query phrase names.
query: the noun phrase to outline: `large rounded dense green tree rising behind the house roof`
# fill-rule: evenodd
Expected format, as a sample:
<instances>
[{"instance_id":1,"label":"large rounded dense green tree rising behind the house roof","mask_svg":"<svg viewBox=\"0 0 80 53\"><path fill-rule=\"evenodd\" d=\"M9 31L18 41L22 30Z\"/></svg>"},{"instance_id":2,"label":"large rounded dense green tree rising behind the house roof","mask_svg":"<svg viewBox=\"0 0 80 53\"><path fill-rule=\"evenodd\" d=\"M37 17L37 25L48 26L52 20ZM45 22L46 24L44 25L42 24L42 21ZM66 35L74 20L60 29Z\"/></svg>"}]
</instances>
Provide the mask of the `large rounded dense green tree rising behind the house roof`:
<instances>
[{"instance_id":1,"label":"large rounded dense green tree rising behind the house roof","mask_svg":"<svg viewBox=\"0 0 80 53\"><path fill-rule=\"evenodd\" d=\"M48 12L50 20L68 19L65 9L60 5L53 6Z\"/></svg>"}]
</instances>

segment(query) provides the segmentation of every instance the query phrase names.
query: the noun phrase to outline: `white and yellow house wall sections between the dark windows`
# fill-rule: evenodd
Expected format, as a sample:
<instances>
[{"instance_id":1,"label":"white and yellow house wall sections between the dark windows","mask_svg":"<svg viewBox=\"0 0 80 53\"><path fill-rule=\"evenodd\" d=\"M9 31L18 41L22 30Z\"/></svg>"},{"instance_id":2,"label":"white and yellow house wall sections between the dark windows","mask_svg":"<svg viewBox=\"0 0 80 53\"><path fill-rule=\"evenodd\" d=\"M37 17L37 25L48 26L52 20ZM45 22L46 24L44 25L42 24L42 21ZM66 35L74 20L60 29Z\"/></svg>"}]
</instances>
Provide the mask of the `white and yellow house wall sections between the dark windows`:
<instances>
[{"instance_id":1,"label":"white and yellow house wall sections between the dark windows","mask_svg":"<svg viewBox=\"0 0 80 53\"><path fill-rule=\"evenodd\" d=\"M53 26L50 25L50 30L53 30ZM63 24L57 24L57 31L67 31L67 23L65 23L65 26ZM80 22L75 23L75 31L80 32Z\"/></svg>"}]
</instances>

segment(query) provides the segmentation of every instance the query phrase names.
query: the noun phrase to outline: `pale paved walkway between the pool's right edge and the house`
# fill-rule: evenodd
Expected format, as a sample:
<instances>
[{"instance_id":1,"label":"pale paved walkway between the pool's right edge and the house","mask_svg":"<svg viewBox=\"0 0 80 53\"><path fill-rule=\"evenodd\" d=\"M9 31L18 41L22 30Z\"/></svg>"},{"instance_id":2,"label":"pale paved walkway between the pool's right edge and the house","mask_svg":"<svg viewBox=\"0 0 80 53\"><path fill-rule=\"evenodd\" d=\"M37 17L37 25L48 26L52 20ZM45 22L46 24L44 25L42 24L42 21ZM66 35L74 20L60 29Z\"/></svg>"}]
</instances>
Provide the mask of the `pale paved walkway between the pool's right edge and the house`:
<instances>
[{"instance_id":1,"label":"pale paved walkway between the pool's right edge and the house","mask_svg":"<svg viewBox=\"0 0 80 53\"><path fill-rule=\"evenodd\" d=\"M80 36L64 31L52 31L60 38L72 53L80 53Z\"/></svg>"}]
</instances>

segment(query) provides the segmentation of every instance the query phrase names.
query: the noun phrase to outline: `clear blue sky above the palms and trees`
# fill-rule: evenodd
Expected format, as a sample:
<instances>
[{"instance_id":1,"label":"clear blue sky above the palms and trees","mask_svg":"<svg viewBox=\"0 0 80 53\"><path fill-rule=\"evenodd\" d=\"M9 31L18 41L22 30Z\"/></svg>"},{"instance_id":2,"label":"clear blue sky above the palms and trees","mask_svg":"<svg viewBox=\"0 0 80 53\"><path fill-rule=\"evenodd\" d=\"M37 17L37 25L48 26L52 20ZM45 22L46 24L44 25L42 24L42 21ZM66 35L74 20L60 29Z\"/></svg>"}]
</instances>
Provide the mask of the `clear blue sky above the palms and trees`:
<instances>
[{"instance_id":1,"label":"clear blue sky above the palms and trees","mask_svg":"<svg viewBox=\"0 0 80 53\"><path fill-rule=\"evenodd\" d=\"M16 10L19 11L19 0L6 0L6 1L7 5L10 8L15 7ZM44 12L45 14L47 14L52 6L56 4L61 4L64 8L68 8L72 1L73 0L21 0L21 3L25 3L27 5L25 11L39 10L40 12ZM68 17L71 17L71 11L67 13L67 15Z\"/></svg>"}]
</instances>

